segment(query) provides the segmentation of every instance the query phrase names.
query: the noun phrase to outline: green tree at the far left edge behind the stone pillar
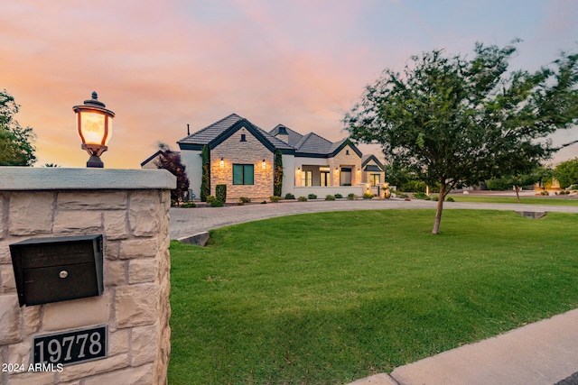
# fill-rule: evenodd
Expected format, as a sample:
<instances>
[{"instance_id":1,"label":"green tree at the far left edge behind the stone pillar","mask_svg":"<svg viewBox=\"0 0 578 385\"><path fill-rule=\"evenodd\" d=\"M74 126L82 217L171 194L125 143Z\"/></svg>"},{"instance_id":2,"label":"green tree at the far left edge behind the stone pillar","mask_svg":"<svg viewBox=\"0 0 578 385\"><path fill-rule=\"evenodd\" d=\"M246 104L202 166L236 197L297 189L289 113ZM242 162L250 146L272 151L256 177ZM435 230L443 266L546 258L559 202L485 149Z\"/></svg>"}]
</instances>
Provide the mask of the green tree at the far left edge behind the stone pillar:
<instances>
[{"instance_id":1,"label":"green tree at the far left edge behind the stone pillar","mask_svg":"<svg viewBox=\"0 0 578 385\"><path fill-rule=\"evenodd\" d=\"M6 90L0 91L0 166L32 166L36 161L33 128L14 119L19 107Z\"/></svg>"}]
</instances>

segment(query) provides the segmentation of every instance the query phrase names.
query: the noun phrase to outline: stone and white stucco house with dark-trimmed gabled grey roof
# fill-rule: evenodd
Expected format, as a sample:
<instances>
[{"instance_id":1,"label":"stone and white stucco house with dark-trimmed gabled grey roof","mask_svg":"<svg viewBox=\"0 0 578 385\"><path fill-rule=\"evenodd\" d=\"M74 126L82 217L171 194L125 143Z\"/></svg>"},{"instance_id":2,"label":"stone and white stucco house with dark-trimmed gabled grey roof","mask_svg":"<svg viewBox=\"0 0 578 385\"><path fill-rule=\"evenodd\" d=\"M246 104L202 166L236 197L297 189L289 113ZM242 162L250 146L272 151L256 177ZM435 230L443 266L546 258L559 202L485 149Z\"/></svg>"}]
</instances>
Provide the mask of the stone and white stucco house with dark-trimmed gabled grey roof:
<instances>
[{"instance_id":1,"label":"stone and white stucco house with dark-trimmed gabled grey roof","mask_svg":"<svg viewBox=\"0 0 578 385\"><path fill-rule=\"evenodd\" d=\"M235 199L275 195L275 177L282 180L282 197L287 193L295 197L337 193L344 197L350 193L360 196L367 189L362 153L349 139L330 142L315 133L302 135L281 124L267 133L232 114L177 143L191 192L197 198L203 173L210 185L210 195L215 195L217 185L224 184L227 197ZM203 148L208 152L204 162ZM378 160L371 159L372 165L383 172ZM283 176L278 171L275 174L275 169L279 170L276 166L282 168ZM384 178L382 175L380 181Z\"/></svg>"}]
</instances>

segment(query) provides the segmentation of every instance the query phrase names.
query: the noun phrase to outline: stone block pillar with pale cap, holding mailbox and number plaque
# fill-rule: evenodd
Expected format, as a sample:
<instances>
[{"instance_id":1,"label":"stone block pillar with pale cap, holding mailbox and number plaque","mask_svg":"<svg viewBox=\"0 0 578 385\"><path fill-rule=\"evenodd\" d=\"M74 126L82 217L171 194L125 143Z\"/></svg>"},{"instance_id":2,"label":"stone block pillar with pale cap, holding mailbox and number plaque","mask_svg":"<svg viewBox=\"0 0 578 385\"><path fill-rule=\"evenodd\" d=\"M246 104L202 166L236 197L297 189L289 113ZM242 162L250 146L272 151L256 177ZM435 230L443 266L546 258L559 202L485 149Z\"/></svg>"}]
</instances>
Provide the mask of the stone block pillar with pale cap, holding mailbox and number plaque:
<instances>
[{"instance_id":1,"label":"stone block pillar with pale cap, holding mailbox and number plaque","mask_svg":"<svg viewBox=\"0 0 578 385\"><path fill-rule=\"evenodd\" d=\"M32 362L33 336L108 325L107 358L63 371L0 372L0 383L165 384L170 354L166 170L0 168L0 362ZM19 307L8 245L103 234L104 292Z\"/></svg>"}]
</instances>

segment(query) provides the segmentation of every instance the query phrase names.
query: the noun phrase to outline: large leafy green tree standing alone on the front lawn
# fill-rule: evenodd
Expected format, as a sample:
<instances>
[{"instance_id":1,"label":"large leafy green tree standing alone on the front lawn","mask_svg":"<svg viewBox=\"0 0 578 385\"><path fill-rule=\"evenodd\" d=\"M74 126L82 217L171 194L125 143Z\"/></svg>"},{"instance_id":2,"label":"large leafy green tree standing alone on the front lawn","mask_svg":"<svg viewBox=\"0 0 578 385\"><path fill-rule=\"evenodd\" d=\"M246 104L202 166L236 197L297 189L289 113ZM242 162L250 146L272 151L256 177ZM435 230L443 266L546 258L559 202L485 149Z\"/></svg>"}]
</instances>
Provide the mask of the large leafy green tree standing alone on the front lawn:
<instances>
[{"instance_id":1,"label":"large leafy green tree standing alone on the front lawn","mask_svg":"<svg viewBox=\"0 0 578 385\"><path fill-rule=\"evenodd\" d=\"M548 159L557 149L547 136L578 122L578 54L534 73L508 71L516 42L476 43L471 59L443 50L412 56L403 74L386 69L368 85L345 116L353 140L381 144L389 160L440 187L433 234L452 188L477 185L501 165L517 170L512 158Z\"/></svg>"}]
</instances>

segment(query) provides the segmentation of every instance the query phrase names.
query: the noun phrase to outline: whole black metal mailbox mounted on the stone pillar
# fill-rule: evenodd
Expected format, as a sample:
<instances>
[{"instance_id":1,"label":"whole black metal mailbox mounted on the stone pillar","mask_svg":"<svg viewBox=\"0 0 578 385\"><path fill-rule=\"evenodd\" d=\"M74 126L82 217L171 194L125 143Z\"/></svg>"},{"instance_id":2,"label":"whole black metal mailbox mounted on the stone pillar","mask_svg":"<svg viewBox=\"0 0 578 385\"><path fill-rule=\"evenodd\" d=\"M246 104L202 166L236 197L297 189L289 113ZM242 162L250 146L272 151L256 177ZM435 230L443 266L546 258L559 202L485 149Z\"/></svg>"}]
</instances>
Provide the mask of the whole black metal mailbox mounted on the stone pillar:
<instances>
[{"instance_id":1,"label":"whole black metal mailbox mounted on the stone pillar","mask_svg":"<svg viewBox=\"0 0 578 385\"><path fill-rule=\"evenodd\" d=\"M102 294L100 234L28 239L10 254L21 307Z\"/></svg>"}]
</instances>

